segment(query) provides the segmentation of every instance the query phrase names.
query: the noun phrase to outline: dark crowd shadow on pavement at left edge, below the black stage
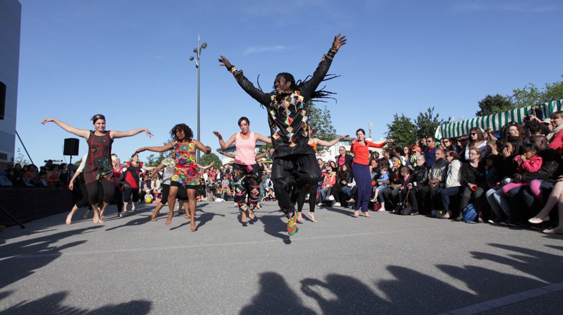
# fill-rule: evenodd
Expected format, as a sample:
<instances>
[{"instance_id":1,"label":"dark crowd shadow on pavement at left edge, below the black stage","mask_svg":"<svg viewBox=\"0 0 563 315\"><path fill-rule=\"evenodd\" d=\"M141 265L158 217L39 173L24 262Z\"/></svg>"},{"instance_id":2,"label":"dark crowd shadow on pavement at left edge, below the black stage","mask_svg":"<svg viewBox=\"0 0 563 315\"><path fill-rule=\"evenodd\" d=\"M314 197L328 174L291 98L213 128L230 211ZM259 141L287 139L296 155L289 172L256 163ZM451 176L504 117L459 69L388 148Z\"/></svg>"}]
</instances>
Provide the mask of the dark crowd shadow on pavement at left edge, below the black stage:
<instances>
[{"instance_id":1,"label":"dark crowd shadow on pavement at left edge, below the black stage","mask_svg":"<svg viewBox=\"0 0 563 315\"><path fill-rule=\"evenodd\" d=\"M60 246L53 244L67 237L96 230L100 227L91 226L2 245L0 288L32 275L35 269L44 267L60 257L62 255L61 250L84 244L86 241L75 241Z\"/></svg>"}]
</instances>

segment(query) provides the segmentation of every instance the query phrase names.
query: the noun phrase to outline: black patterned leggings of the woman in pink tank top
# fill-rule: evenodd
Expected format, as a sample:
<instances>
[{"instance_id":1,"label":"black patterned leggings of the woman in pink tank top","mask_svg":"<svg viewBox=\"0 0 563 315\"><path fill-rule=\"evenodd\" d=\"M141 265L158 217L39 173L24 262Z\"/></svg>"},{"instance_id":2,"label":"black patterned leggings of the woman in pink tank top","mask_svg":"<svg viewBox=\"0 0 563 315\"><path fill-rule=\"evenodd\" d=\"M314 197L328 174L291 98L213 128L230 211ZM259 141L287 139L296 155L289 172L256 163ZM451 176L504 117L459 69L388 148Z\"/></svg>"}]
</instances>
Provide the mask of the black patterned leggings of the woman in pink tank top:
<instances>
[{"instance_id":1,"label":"black patterned leggings of the woman in pink tank top","mask_svg":"<svg viewBox=\"0 0 563 315\"><path fill-rule=\"evenodd\" d=\"M243 206L248 194L250 209L256 208L260 197L260 185L257 181L256 164L242 165L233 164L233 185L235 191L235 203Z\"/></svg>"}]
</instances>

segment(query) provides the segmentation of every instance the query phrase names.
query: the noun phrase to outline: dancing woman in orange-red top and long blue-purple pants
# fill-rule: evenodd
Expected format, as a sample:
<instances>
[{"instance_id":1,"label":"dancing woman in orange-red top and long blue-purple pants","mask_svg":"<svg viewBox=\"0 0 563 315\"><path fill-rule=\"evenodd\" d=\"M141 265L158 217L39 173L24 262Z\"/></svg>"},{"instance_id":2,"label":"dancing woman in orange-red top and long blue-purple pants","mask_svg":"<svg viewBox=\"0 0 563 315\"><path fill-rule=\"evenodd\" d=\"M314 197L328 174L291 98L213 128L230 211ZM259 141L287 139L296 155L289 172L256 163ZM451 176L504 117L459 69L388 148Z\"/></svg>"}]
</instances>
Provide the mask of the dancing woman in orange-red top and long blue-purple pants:
<instances>
[{"instance_id":1,"label":"dancing woman in orange-red top and long blue-purple pants","mask_svg":"<svg viewBox=\"0 0 563 315\"><path fill-rule=\"evenodd\" d=\"M391 142L391 139L387 139L381 143L373 143L364 139L365 131L364 129L358 129L356 131L355 138L352 139L352 147L350 152L354 154L354 163L352 164L352 174L354 174L354 179L356 180L356 186L358 187L358 196L356 197L356 203L354 204L354 216L359 216L359 210L361 207L361 212L364 213L366 217L370 217L368 213L368 203L369 196L372 192L372 178L369 174L369 147L381 148L386 145L386 143Z\"/></svg>"}]
</instances>

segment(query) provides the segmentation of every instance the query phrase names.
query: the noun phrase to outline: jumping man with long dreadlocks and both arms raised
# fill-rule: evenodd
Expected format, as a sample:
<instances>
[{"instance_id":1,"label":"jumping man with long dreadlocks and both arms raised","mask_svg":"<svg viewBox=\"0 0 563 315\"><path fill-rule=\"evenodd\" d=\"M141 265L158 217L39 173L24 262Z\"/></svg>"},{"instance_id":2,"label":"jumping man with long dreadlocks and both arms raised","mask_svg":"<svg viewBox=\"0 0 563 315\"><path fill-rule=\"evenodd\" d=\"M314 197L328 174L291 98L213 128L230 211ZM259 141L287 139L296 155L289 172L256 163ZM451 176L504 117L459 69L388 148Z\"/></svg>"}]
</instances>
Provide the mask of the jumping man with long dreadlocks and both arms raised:
<instances>
[{"instance_id":1,"label":"jumping man with long dreadlocks and both arms raised","mask_svg":"<svg viewBox=\"0 0 563 315\"><path fill-rule=\"evenodd\" d=\"M291 201L291 191L296 187L315 185L321 176L316 166L315 152L309 141L307 119L309 118L309 101L322 97L321 91L315 91L325 79L332 60L340 47L346 44L346 37L338 34L334 37L332 47L323 56L311 79L297 85L293 75L280 73L274 80L275 91L264 93L257 89L244 77L242 70L237 70L226 57L219 61L227 71L232 73L239 83L254 100L266 107L272 144L272 181L278 204L287 217L289 235L297 232L297 213Z\"/></svg>"}]
</instances>

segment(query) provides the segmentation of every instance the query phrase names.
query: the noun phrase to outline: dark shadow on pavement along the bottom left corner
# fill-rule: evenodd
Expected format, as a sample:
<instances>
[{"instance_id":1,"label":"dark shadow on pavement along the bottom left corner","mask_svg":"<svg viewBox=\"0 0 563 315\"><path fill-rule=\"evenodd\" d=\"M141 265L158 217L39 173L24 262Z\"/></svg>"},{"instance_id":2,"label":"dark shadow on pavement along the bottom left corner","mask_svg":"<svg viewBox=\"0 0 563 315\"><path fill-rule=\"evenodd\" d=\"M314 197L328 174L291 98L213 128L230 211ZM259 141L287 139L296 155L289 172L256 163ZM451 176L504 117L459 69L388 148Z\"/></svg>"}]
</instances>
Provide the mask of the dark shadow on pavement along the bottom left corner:
<instances>
[{"instance_id":1,"label":"dark shadow on pavement along the bottom left corner","mask_svg":"<svg viewBox=\"0 0 563 315\"><path fill-rule=\"evenodd\" d=\"M67 291L59 291L43 298L25 301L12 307L3 309L0 314L148 314L151 302L147 300L133 300L131 302L104 305L96 309L83 309L63 305L62 302L68 296Z\"/></svg>"}]
</instances>

